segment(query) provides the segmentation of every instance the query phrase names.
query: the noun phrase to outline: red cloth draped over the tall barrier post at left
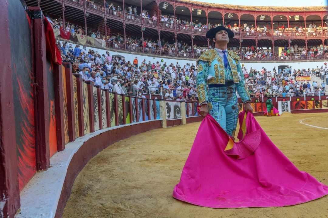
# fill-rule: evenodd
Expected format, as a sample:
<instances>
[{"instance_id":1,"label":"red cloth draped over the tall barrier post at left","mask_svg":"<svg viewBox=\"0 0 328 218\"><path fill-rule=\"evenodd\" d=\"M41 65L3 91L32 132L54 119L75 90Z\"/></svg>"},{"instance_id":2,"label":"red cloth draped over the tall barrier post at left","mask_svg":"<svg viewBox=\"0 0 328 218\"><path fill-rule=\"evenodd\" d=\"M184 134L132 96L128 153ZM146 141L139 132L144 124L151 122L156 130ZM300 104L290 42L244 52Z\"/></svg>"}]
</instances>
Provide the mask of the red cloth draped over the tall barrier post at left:
<instances>
[{"instance_id":1,"label":"red cloth draped over the tall barrier post at left","mask_svg":"<svg viewBox=\"0 0 328 218\"><path fill-rule=\"evenodd\" d=\"M62 57L58 46L56 45L55 35L53 34L52 27L47 18L44 18L44 28L46 35L46 51L47 58L55 64L62 64Z\"/></svg>"}]
</instances>

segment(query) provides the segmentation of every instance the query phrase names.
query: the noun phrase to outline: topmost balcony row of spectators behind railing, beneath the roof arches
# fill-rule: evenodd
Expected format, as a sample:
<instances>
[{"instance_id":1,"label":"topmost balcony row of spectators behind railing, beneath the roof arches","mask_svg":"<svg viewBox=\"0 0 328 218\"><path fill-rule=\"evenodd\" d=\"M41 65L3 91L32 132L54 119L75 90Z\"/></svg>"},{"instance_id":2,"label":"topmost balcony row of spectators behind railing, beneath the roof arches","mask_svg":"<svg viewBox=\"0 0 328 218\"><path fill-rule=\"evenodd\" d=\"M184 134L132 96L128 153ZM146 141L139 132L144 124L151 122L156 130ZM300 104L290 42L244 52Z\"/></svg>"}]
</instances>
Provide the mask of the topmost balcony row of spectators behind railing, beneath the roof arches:
<instances>
[{"instance_id":1,"label":"topmost balcony row of spectators behind railing, beneath the roof arches","mask_svg":"<svg viewBox=\"0 0 328 218\"><path fill-rule=\"evenodd\" d=\"M201 27L190 26L190 25L182 25L177 24L175 22L163 22L159 19L153 20L152 18L148 17L141 17L140 15L130 14L130 13L124 13L122 10L114 10L111 8L105 8L104 5L99 5L96 3L92 3L89 1L83 1L83 0L55 0L57 2L65 2L65 5L76 7L81 10L86 10L88 13L93 13L101 17L105 17L106 19L116 20L120 21L125 24L132 24L132 25L138 25L143 26L146 28L153 28L157 29L158 31L169 31L169 32L175 32L176 34L184 33L184 34L190 34L195 36L205 36L206 32L208 30L206 25L203 25ZM175 18L174 18L175 20ZM270 23L273 21L271 20ZM252 31L239 31L235 30L235 38L239 39L268 39L268 40L276 40L276 39L326 39L328 38L328 27L322 25L322 30L318 28L309 29L308 27L302 27L301 29L298 28L279 28L274 27L273 25L268 25L268 28L266 31L264 31L264 28L256 28Z\"/></svg>"}]
</instances>

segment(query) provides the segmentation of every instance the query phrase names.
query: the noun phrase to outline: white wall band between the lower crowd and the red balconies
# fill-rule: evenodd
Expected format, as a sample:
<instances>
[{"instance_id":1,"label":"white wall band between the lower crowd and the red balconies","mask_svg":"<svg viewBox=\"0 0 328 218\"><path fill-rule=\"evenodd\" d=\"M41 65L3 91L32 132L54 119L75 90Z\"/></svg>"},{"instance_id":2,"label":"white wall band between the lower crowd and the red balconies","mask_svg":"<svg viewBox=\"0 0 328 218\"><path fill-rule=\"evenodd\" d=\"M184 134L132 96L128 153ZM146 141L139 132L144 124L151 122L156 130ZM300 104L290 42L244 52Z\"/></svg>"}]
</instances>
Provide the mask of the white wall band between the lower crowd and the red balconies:
<instances>
[{"instance_id":1,"label":"white wall band between the lower crowd and the red balconies","mask_svg":"<svg viewBox=\"0 0 328 218\"><path fill-rule=\"evenodd\" d=\"M63 41L61 41L63 42ZM70 43L68 43L70 44ZM72 43L72 47L75 48L74 43ZM80 46L80 48L83 48L83 45ZM174 57L172 58L158 58L158 57L151 57L149 56L149 54L145 54L145 55L135 55L135 54L130 54L129 51L121 51L121 52L113 52L110 49L109 50L104 50L104 49L98 49L98 48L92 48L92 47L87 47L87 51L89 50L89 48L91 48L94 51L98 51L98 54L102 55L102 54L106 54L106 51L109 51L111 56L115 56L115 55L120 55L125 57L125 60L130 60L131 62L133 61L133 59L135 57L138 57L139 60L139 66L141 64L141 62L146 59L146 63L148 63L148 61L150 61L151 63L156 63L157 61L159 61L159 63L164 64L165 62L167 64L171 64L173 63L174 65L176 64L176 61L179 62L180 66L183 66L187 63L190 63L190 65L194 64L196 66L196 61L195 60L180 60L180 59L176 59ZM163 59L163 62L161 62L161 60ZM321 67L321 66L325 66L324 63L328 62L326 61L316 61L316 62L241 62L241 64L244 64L245 67L247 69L250 69L251 67L253 69L259 70L262 69L262 67L266 68L268 71L272 71L274 67L276 67L276 70L278 70L278 66L279 65L288 65L288 66L292 66L292 69L312 69L312 68L316 68L317 66Z\"/></svg>"}]
</instances>

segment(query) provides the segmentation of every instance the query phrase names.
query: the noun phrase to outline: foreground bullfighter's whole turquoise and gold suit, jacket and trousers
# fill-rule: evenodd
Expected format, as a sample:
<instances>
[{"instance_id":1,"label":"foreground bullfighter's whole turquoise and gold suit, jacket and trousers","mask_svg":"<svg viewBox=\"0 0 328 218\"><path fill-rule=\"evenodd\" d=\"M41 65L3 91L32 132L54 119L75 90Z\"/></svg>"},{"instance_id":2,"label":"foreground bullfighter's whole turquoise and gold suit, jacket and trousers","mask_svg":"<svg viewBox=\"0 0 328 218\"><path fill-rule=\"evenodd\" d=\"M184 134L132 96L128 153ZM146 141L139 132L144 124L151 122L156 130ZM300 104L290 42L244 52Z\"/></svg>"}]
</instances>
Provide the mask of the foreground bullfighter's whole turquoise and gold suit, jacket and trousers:
<instances>
[{"instance_id":1,"label":"foreground bullfighter's whole turquoise and gold suit, jacket and trousers","mask_svg":"<svg viewBox=\"0 0 328 218\"><path fill-rule=\"evenodd\" d=\"M233 51L212 48L198 58L197 64L199 103L207 103L209 114L230 136L235 137L238 118L236 91L243 103L251 101L240 57Z\"/></svg>"}]
</instances>

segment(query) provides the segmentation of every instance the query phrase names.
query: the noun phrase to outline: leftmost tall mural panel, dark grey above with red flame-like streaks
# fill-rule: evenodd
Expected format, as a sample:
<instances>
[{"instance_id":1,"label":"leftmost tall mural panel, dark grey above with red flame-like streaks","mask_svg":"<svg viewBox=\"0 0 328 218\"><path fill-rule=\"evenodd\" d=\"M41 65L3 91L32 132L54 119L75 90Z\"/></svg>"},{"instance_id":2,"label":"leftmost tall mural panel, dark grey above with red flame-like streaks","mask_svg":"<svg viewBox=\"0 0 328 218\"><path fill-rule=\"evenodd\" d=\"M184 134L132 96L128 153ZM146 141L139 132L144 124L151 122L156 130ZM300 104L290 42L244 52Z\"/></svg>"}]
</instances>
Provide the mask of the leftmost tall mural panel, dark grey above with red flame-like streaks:
<instances>
[{"instance_id":1,"label":"leftmost tall mural panel, dark grey above with red flame-like streaks","mask_svg":"<svg viewBox=\"0 0 328 218\"><path fill-rule=\"evenodd\" d=\"M12 83L13 87L18 182L19 190L22 190L36 172L31 20L19 1L4 3L9 4L8 13L11 18L8 20L10 42L4 43L10 43L12 81L6 82ZM8 74L6 71L1 73L5 77ZM1 94L6 94L6 91ZM2 202L6 200L0 202L2 214Z\"/></svg>"}]
</instances>

